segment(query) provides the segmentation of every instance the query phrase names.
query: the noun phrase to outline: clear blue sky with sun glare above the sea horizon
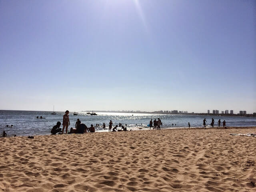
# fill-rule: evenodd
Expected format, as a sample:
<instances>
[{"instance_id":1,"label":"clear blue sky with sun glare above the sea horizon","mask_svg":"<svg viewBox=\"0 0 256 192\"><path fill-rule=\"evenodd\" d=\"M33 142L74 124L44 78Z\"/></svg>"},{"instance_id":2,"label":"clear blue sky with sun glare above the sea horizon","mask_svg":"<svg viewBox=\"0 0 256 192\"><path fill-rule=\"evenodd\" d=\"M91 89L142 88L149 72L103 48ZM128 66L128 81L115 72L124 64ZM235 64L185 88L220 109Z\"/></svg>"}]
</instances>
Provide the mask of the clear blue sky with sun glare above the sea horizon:
<instances>
[{"instance_id":1,"label":"clear blue sky with sun glare above the sea horizon","mask_svg":"<svg viewBox=\"0 0 256 192\"><path fill-rule=\"evenodd\" d=\"M255 0L0 0L0 109L256 112L255 13Z\"/></svg>"}]
</instances>

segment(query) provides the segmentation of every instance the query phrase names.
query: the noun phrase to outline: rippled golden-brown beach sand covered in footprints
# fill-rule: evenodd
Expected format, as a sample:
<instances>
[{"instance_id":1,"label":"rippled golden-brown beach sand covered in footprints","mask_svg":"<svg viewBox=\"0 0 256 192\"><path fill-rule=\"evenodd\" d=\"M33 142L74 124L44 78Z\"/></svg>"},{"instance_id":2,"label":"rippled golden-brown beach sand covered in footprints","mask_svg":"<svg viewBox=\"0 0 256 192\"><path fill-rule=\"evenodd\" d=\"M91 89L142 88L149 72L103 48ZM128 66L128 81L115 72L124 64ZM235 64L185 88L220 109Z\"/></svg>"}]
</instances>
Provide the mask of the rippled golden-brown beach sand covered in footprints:
<instances>
[{"instance_id":1,"label":"rippled golden-brown beach sand covered in footprints","mask_svg":"<svg viewBox=\"0 0 256 192\"><path fill-rule=\"evenodd\" d=\"M0 138L0 191L256 191L254 128Z\"/></svg>"}]
</instances>

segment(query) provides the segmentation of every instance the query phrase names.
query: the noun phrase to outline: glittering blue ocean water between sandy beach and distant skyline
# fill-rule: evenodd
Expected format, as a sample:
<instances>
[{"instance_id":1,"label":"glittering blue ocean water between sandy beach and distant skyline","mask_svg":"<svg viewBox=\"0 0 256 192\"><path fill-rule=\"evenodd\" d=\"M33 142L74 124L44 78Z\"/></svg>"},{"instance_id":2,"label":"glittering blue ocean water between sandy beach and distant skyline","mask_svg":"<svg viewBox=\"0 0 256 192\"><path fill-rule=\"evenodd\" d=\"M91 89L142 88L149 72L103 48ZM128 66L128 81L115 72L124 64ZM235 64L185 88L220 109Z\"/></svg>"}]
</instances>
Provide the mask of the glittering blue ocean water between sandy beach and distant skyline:
<instances>
[{"instance_id":1,"label":"glittering blue ocean water between sandy beach and distant skyline","mask_svg":"<svg viewBox=\"0 0 256 192\"><path fill-rule=\"evenodd\" d=\"M51 115L50 111L16 111L16 110L0 110L0 134L5 131L8 136L28 136L28 135L48 135L56 122L62 123L64 112L56 112L56 115ZM207 126L210 127L212 117L215 120L214 126L220 119L226 121L226 126L256 126L255 117L233 117L233 116L200 116L200 115L170 115L170 114L131 114L131 113L97 113L97 116L91 116L86 112L78 112L77 116L70 112L70 126L75 127L76 121L80 121L86 126L91 124L102 125L106 124L106 129L96 127L96 132L108 131L109 121L112 120L113 127L122 123L127 124L127 130L148 130L147 126L150 119L160 118L163 125L161 128L188 128L188 122L192 128L203 127L203 119L206 118ZM133 115L133 116L132 116ZM37 116L42 116L45 119L36 119ZM174 124L174 125L172 125ZM176 126L175 126L176 124ZM6 127L8 125L8 127ZM13 125L13 127L10 127ZM62 128L62 126L61 126Z\"/></svg>"}]
</instances>

